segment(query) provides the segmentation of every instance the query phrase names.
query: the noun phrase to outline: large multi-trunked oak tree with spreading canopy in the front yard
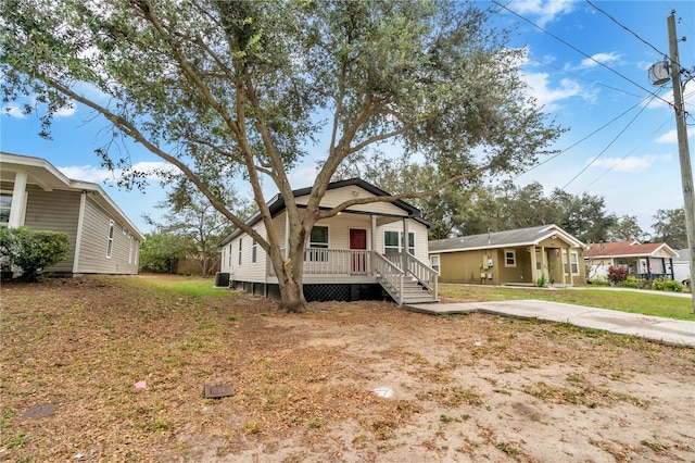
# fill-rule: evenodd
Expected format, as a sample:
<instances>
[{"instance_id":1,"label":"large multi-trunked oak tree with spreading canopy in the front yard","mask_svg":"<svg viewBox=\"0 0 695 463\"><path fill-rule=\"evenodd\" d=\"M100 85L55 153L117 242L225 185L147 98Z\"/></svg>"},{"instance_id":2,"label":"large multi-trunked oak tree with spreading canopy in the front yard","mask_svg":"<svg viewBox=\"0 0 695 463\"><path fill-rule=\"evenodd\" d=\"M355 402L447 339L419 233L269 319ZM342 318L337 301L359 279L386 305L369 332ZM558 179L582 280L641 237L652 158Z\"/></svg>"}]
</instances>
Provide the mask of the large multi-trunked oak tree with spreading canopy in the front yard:
<instances>
[{"instance_id":1,"label":"large multi-trunked oak tree with spreading canopy in the front yard","mask_svg":"<svg viewBox=\"0 0 695 463\"><path fill-rule=\"evenodd\" d=\"M281 306L299 311L316 221L435 191L321 210L346 158L390 142L437 165L444 188L533 163L558 136L525 93L522 51L505 46L490 14L437 0L1 0L2 89L5 101L31 95L47 103L45 135L75 101L176 165L268 253ZM288 173L313 142L323 163L300 210ZM128 167L115 151L100 153ZM249 183L267 237L225 208L223 175ZM287 205L287 256L262 179Z\"/></svg>"}]
</instances>

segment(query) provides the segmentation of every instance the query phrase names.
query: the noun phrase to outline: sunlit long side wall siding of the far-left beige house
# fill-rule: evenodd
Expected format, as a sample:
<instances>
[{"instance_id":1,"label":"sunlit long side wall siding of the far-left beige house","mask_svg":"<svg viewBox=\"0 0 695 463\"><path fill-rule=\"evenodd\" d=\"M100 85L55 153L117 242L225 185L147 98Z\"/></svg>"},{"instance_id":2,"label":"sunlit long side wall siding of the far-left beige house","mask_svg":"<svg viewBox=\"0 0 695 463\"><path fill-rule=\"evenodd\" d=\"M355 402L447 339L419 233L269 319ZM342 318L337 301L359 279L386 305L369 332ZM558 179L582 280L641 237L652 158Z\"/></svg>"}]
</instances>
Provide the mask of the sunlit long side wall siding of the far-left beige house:
<instances>
[{"instance_id":1,"label":"sunlit long side wall siding of the far-left beige house","mask_svg":"<svg viewBox=\"0 0 695 463\"><path fill-rule=\"evenodd\" d=\"M109 241L109 224L114 221L113 249L111 258L106 256ZM89 195L85 201L83 236L77 273L137 274L137 259L129 259L138 250L140 243L127 232L124 234L123 223L111 217ZM134 251L131 254L131 246Z\"/></svg>"}]
</instances>

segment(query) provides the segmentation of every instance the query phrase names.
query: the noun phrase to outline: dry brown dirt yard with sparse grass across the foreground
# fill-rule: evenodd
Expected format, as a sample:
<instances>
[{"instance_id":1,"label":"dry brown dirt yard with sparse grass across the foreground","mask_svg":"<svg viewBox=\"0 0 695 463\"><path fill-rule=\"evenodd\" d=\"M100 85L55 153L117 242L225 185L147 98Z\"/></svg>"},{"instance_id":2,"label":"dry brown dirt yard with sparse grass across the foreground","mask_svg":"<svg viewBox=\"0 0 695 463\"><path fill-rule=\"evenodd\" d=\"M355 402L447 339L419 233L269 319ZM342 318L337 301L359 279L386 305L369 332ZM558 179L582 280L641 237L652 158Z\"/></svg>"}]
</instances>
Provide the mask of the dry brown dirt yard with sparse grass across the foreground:
<instances>
[{"instance_id":1,"label":"dry brown dirt yard with sparse grass across the foreground","mask_svg":"<svg viewBox=\"0 0 695 463\"><path fill-rule=\"evenodd\" d=\"M0 461L695 461L692 349L220 291L3 284Z\"/></svg>"}]
</instances>

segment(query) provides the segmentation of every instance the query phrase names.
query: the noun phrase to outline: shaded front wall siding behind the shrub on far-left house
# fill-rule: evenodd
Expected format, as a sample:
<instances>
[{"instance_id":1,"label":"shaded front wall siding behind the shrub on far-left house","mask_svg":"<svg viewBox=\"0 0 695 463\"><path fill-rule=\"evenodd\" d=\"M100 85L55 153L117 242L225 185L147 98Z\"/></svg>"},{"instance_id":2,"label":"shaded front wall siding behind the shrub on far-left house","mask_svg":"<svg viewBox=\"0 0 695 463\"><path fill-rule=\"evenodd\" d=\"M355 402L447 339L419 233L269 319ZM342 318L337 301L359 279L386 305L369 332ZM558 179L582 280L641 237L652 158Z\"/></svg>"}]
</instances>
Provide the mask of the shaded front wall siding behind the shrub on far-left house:
<instances>
[{"instance_id":1,"label":"shaded front wall siding behind the shrub on far-left house","mask_svg":"<svg viewBox=\"0 0 695 463\"><path fill-rule=\"evenodd\" d=\"M27 185L27 203L24 225L35 230L62 232L67 234L70 253L67 259L48 272L72 273L79 220L79 196L77 191L45 191L35 185Z\"/></svg>"}]
</instances>

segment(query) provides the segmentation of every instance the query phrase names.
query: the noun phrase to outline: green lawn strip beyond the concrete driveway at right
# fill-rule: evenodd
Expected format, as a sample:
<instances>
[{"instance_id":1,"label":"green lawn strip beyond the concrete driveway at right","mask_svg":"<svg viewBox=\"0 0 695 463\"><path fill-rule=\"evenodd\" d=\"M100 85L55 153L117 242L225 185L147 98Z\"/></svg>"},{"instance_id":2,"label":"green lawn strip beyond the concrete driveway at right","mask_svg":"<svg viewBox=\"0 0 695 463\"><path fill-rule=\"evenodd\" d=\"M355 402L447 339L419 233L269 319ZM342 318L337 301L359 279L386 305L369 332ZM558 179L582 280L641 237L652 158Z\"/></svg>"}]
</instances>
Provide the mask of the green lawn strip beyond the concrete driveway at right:
<instances>
[{"instance_id":1,"label":"green lawn strip beyond the concrete driveway at right","mask_svg":"<svg viewBox=\"0 0 695 463\"><path fill-rule=\"evenodd\" d=\"M590 288L516 288L480 285L440 284L440 295L470 301L503 301L539 299L566 302L644 315L695 321L693 302L688 298L655 295L646 291L617 291Z\"/></svg>"}]
</instances>

